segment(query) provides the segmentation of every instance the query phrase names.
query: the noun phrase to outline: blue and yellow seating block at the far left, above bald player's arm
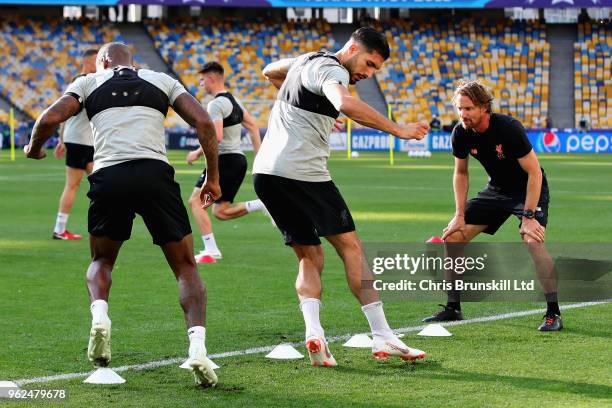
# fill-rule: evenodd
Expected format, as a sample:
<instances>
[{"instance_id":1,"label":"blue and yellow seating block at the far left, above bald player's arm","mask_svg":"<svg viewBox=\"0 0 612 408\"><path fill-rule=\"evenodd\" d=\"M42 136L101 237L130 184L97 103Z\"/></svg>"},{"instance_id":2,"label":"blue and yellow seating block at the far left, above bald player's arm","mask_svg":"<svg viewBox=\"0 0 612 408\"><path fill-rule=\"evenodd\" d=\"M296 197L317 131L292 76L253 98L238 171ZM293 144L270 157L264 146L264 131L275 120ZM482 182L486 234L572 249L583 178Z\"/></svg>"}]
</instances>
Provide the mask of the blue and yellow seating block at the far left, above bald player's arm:
<instances>
[{"instance_id":1,"label":"blue and yellow seating block at the far left, above bald player's arm","mask_svg":"<svg viewBox=\"0 0 612 408\"><path fill-rule=\"evenodd\" d=\"M121 41L119 31L100 22L0 19L0 94L36 118L79 73L89 47Z\"/></svg>"}]
</instances>

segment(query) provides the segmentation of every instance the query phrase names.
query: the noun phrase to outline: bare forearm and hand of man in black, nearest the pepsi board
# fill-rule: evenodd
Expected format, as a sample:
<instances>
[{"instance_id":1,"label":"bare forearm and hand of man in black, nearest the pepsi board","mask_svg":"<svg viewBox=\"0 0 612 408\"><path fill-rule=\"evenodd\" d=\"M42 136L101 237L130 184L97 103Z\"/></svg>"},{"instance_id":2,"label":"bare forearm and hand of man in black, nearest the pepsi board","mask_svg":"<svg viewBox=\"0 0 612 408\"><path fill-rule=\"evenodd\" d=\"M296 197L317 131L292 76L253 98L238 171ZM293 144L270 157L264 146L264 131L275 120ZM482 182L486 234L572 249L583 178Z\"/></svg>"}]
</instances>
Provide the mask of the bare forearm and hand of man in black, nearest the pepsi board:
<instances>
[{"instance_id":1,"label":"bare forearm and hand of man in black, nearest the pepsi board","mask_svg":"<svg viewBox=\"0 0 612 408\"><path fill-rule=\"evenodd\" d=\"M521 168L527 173L527 194L525 197L525 210L532 210L538 206L542 189L542 169L533 149L527 155L518 159ZM535 218L523 217L521 234L527 234L537 242L544 242L544 228Z\"/></svg>"}]
</instances>

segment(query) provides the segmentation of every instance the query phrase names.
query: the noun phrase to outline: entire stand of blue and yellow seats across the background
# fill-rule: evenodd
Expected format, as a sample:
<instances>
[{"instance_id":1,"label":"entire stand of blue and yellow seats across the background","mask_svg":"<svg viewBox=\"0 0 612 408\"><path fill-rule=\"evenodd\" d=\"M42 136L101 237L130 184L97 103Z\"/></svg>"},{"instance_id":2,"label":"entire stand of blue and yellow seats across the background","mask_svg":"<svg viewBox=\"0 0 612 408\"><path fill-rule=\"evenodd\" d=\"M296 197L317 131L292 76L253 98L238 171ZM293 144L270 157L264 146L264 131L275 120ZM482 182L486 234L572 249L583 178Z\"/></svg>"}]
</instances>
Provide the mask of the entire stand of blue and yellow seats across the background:
<instances>
[{"instance_id":1,"label":"entire stand of blue and yellow seats across the background","mask_svg":"<svg viewBox=\"0 0 612 408\"><path fill-rule=\"evenodd\" d=\"M459 78L478 78L493 89L494 107L520 119L528 128L543 127L549 98L549 44L543 23L490 18L453 20L395 19L379 24L393 53L377 75L380 90L398 121L442 124L455 119L452 91ZM318 49L337 50L325 20L270 18L191 18L144 22L164 61L189 91L206 102L198 86L202 64L219 60L229 88L245 103L262 128L276 90L261 68L278 58ZM575 125L612 128L612 33L609 25L582 22L574 44ZM109 23L89 20L0 18L0 94L36 118L57 98L78 71L78 57L90 46L123 41ZM145 66L137 59L137 64ZM357 95L356 88L350 87ZM571 85L570 85L571 89ZM0 112L0 123L8 114ZM171 130L187 125L170 112Z\"/></svg>"}]
</instances>

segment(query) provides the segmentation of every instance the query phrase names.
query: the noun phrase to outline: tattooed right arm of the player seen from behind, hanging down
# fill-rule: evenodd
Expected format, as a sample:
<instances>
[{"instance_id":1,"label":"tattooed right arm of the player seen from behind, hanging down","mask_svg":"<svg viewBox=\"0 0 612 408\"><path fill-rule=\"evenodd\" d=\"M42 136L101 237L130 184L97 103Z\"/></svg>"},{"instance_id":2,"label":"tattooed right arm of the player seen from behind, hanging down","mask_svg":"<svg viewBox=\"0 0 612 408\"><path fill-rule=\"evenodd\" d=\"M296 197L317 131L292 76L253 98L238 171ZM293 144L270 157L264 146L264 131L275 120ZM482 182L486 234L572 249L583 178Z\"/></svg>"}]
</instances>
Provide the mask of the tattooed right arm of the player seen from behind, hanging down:
<instances>
[{"instance_id":1,"label":"tattooed right arm of the player seen from behind, hanging down","mask_svg":"<svg viewBox=\"0 0 612 408\"><path fill-rule=\"evenodd\" d=\"M215 126L206 110L188 92L183 92L174 100L173 108L185 122L196 129L198 140L206 156L206 184L202 187L200 197L203 198L203 205L207 207L221 197ZM204 199L207 194L210 197Z\"/></svg>"}]
</instances>

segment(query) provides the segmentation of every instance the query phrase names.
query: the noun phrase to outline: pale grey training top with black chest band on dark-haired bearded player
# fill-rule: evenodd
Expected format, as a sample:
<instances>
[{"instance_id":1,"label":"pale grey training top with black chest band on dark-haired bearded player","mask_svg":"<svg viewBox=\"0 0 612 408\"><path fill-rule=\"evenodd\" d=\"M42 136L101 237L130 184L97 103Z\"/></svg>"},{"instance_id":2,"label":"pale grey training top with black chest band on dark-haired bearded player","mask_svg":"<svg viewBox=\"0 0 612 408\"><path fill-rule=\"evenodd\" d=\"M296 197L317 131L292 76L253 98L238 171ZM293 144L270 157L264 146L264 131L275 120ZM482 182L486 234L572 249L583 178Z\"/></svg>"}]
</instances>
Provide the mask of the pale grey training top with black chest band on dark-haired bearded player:
<instances>
[{"instance_id":1,"label":"pale grey training top with black chest band on dark-haired bearded player","mask_svg":"<svg viewBox=\"0 0 612 408\"><path fill-rule=\"evenodd\" d=\"M308 53L293 59L272 108L253 174L331 180L329 136L339 112L323 92L329 84L349 84L349 72L333 54Z\"/></svg>"}]
</instances>

